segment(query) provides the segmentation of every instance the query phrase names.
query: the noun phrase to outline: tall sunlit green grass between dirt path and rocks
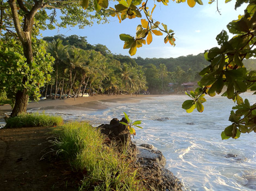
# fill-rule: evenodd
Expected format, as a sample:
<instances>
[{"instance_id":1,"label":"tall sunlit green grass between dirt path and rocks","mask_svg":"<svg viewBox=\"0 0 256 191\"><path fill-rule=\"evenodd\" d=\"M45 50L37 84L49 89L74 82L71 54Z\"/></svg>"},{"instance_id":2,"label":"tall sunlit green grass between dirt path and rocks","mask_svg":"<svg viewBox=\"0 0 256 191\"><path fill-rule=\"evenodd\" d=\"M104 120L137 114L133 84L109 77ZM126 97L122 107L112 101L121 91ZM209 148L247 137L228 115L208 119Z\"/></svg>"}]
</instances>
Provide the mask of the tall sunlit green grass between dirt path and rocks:
<instances>
[{"instance_id":1,"label":"tall sunlit green grass between dirt path and rocks","mask_svg":"<svg viewBox=\"0 0 256 191\"><path fill-rule=\"evenodd\" d=\"M143 190L139 188L137 169L125 152L107 146L105 138L87 122L69 122L53 141L57 153L71 167L83 172L80 190Z\"/></svg>"}]
</instances>

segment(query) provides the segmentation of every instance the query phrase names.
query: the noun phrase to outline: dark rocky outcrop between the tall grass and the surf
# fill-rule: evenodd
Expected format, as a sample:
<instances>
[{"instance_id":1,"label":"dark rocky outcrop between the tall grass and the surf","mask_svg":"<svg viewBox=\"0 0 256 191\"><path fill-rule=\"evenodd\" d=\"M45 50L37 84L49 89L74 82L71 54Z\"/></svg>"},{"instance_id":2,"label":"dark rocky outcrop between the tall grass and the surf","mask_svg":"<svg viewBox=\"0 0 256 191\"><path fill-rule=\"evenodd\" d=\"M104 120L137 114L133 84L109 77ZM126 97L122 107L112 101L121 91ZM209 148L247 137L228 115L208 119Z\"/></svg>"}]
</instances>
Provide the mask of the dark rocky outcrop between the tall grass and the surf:
<instances>
[{"instance_id":1,"label":"dark rocky outcrop between the tall grass and the surf","mask_svg":"<svg viewBox=\"0 0 256 191\"><path fill-rule=\"evenodd\" d=\"M123 118L121 121L126 122ZM129 148L131 156L136 157L136 167L139 177L146 190L164 190L164 191L180 191L182 184L177 177L168 169L166 158L161 151L155 150L153 145L141 144L136 146L131 141L131 135L125 125L119 123L119 120L114 118L110 124L102 124L99 127L101 133L107 135L111 141L116 141L120 145L120 150L124 144Z\"/></svg>"}]
</instances>

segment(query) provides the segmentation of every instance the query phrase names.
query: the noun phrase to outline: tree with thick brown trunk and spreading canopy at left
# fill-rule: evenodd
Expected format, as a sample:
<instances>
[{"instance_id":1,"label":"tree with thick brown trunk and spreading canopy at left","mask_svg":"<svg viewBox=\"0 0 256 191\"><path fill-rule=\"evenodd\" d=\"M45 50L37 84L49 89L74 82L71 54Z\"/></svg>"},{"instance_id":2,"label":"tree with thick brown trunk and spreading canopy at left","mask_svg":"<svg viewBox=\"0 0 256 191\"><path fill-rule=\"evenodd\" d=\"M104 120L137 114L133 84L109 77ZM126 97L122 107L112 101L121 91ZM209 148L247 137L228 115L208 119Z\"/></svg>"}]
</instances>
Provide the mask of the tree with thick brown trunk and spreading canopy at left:
<instances>
[{"instance_id":1,"label":"tree with thick brown trunk and spreading canopy at left","mask_svg":"<svg viewBox=\"0 0 256 191\"><path fill-rule=\"evenodd\" d=\"M36 48L34 48L37 42L35 36L39 34L39 29L52 29L54 28L53 24L57 24L58 27L78 25L80 28L83 28L86 25L92 24L94 19L99 22L101 20L106 21L105 17L102 17L103 13L101 11L89 14L94 11L93 4L89 4L87 10L83 10L80 8L80 2L78 0L2 0L0 4L0 35L4 36L9 33L15 36L15 39L21 44L21 54L26 59L23 65L28 66L29 70L33 70L34 65L39 65L36 63L38 60L35 60ZM60 16L60 23L56 19L57 9L60 10L60 13L65 14L65 16ZM2 30L4 30L4 33L2 33ZM44 55L41 55L40 59L44 59L44 57ZM47 64L49 64L49 67L46 67L48 72L51 68L51 61L48 61ZM21 72L16 74L17 76L22 76ZM11 116L25 113L27 110L28 87L33 86L33 82L36 81L35 73L32 72L32 75L29 77L31 78L23 75L21 87L14 92L15 105Z\"/></svg>"}]
</instances>

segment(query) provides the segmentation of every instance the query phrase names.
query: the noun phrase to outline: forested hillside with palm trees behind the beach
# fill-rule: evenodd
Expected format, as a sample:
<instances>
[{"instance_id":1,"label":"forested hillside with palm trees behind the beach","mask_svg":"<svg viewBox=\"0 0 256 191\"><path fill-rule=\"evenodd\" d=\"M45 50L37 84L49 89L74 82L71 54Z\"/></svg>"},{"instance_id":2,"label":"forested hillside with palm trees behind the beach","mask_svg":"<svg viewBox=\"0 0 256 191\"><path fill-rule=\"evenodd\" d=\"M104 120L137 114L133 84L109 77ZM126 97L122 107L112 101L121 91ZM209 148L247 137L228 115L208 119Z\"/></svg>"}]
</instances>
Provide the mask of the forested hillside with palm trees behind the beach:
<instances>
[{"instance_id":1,"label":"forested hillside with palm trees behind the beach","mask_svg":"<svg viewBox=\"0 0 256 191\"><path fill-rule=\"evenodd\" d=\"M138 94L145 90L151 94L174 93L184 91L183 83L199 81L201 78L198 75L199 71L209 65L203 53L178 58L143 59L112 54L105 45L89 44L86 36L56 35L47 36L44 40L48 42L49 47L61 41L61 46L68 52L65 55L62 53L63 58L59 60L60 71L57 72L57 63L56 61L54 63L55 73L51 87L54 84L52 89L56 94L62 89L66 91L62 90L61 94L68 93L70 88L76 95L81 89L89 94ZM48 48L48 52L54 56L52 51L54 52ZM54 57L58 60L57 55ZM77 58L80 61L70 66L70 59L75 57L81 57ZM97 58L100 58L101 62L103 60L103 63L100 64ZM69 59L69 64L66 59ZM254 69L254 60L246 60L245 65ZM173 84L171 88L168 86L169 83Z\"/></svg>"}]
</instances>

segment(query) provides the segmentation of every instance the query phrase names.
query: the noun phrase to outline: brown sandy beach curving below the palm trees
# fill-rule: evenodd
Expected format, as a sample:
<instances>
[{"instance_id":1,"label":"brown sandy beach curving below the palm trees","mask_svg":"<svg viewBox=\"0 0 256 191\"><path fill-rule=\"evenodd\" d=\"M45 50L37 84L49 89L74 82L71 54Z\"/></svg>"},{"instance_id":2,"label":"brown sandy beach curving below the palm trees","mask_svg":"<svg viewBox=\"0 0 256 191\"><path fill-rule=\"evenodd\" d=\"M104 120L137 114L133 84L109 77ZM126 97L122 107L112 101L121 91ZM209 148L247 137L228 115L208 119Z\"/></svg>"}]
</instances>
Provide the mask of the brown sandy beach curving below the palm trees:
<instances>
[{"instance_id":1,"label":"brown sandy beach curving below the palm trees","mask_svg":"<svg viewBox=\"0 0 256 191\"><path fill-rule=\"evenodd\" d=\"M65 100L40 100L39 102L29 102L27 110L34 108L48 109L53 107L66 107L66 106L76 106L77 108L89 108L89 109L106 109L107 107L102 104L102 102L120 102L120 103L132 103L138 102L144 98L156 97L162 95L97 95L90 97L77 97L66 98ZM4 113L11 112L10 105L0 106L0 118L4 116Z\"/></svg>"}]
</instances>

